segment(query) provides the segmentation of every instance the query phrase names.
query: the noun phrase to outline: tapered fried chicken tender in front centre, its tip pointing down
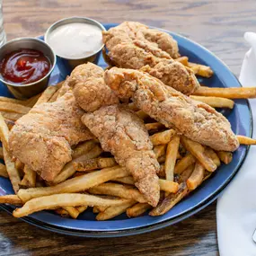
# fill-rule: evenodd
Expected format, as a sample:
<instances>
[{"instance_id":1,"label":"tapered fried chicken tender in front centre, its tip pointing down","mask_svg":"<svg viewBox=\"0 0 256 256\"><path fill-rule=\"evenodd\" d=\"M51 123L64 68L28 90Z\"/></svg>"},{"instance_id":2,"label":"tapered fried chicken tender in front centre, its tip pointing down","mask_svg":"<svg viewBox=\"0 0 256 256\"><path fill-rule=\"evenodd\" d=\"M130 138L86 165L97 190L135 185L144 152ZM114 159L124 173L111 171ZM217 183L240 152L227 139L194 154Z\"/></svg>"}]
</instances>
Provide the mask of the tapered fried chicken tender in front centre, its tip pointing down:
<instances>
[{"instance_id":1,"label":"tapered fried chicken tender in front centre, its tip pointing down","mask_svg":"<svg viewBox=\"0 0 256 256\"><path fill-rule=\"evenodd\" d=\"M99 138L102 149L113 154L133 175L138 190L155 207L160 197L155 172L160 167L143 121L119 105L85 113L82 121Z\"/></svg>"}]
</instances>

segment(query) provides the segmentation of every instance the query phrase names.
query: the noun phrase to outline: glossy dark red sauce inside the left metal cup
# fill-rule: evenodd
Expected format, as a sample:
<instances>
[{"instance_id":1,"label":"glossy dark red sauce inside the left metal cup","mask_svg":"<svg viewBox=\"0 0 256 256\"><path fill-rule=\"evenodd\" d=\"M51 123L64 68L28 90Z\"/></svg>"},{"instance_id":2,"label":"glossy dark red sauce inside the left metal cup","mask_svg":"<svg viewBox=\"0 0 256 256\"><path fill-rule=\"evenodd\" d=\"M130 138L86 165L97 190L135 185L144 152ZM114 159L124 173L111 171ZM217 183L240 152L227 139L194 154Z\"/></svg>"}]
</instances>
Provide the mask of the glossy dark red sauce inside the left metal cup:
<instances>
[{"instance_id":1,"label":"glossy dark red sauce inside the left metal cup","mask_svg":"<svg viewBox=\"0 0 256 256\"><path fill-rule=\"evenodd\" d=\"M49 73L48 57L36 49L15 50L0 62L0 73L6 82L30 84Z\"/></svg>"}]
</instances>

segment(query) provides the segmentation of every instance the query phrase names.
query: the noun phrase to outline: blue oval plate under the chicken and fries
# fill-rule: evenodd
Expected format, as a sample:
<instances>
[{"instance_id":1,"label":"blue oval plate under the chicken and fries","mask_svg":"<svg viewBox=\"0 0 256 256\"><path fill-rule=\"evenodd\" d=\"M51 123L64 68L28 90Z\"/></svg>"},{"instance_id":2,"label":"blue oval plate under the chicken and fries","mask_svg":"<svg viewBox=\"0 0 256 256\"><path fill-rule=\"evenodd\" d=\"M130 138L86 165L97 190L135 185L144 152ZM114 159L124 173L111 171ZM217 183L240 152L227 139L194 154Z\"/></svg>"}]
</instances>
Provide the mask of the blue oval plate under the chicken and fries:
<instances>
[{"instance_id":1,"label":"blue oval plate under the chicken and fries","mask_svg":"<svg viewBox=\"0 0 256 256\"><path fill-rule=\"evenodd\" d=\"M107 30L116 24L105 24ZM181 55L190 57L190 61L211 66L215 75L209 79L200 78L199 82L212 87L240 87L241 85L225 64L207 49L199 44L188 40L180 35L169 32L179 43ZM43 40L43 37L40 37ZM102 56L99 59L99 66L107 66ZM57 84L66 77L65 66L57 60L49 84ZM0 84L0 94L11 96L4 84ZM222 110L226 118L229 119L235 134L251 137L252 135L252 114L249 102L246 100L235 101L234 110ZM62 234L72 234L78 236L107 237L122 236L129 234L141 234L152 231L167 225L172 225L182 219L191 216L200 209L207 207L225 189L227 184L234 178L236 172L241 167L248 147L240 146L234 152L233 162L228 165L221 165L220 168L205 181L198 190L183 199L178 205L173 207L163 216L139 216L129 219L126 215L118 216L109 221L96 221L92 211L86 211L78 219L68 219L57 216L52 212L43 211L23 217L22 220L37 225L41 228L55 231ZM0 178L0 195L12 194L13 189L10 181ZM4 205L8 212L13 211L13 207Z\"/></svg>"}]
</instances>

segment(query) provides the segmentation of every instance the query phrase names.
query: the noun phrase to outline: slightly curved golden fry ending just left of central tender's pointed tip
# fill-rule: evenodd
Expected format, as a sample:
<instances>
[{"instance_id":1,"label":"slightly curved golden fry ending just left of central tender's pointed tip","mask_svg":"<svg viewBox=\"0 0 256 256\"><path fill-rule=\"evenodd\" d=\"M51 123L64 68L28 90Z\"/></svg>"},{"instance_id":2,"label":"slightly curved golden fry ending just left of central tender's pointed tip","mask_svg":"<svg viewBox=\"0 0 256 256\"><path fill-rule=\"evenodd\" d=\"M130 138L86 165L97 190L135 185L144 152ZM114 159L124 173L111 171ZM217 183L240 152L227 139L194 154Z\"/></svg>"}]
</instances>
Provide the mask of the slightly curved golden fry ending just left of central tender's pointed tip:
<instances>
[{"instance_id":1,"label":"slightly curved golden fry ending just left of central tender's pointed tip","mask_svg":"<svg viewBox=\"0 0 256 256\"><path fill-rule=\"evenodd\" d=\"M140 193L140 191L128 185L116 183L103 183L89 189L89 192L91 194L110 195L122 199L134 199L139 203L146 203L146 199Z\"/></svg>"}]
</instances>

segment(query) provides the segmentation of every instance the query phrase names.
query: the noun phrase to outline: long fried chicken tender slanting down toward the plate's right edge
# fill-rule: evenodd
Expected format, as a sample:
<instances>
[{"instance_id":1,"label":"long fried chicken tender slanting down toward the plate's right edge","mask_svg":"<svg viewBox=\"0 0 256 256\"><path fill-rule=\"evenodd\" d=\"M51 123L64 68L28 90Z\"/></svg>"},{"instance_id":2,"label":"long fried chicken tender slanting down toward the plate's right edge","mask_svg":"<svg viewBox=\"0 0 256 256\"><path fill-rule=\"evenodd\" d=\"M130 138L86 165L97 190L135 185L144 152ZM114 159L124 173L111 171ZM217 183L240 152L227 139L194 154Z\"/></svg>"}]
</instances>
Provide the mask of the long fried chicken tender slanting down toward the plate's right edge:
<instances>
[{"instance_id":1,"label":"long fried chicken tender slanting down toward the plate's right edge","mask_svg":"<svg viewBox=\"0 0 256 256\"><path fill-rule=\"evenodd\" d=\"M167 128L216 150L234 151L239 146L227 119L205 103L197 102L146 73L112 67L105 83L131 98L138 108Z\"/></svg>"}]
</instances>

